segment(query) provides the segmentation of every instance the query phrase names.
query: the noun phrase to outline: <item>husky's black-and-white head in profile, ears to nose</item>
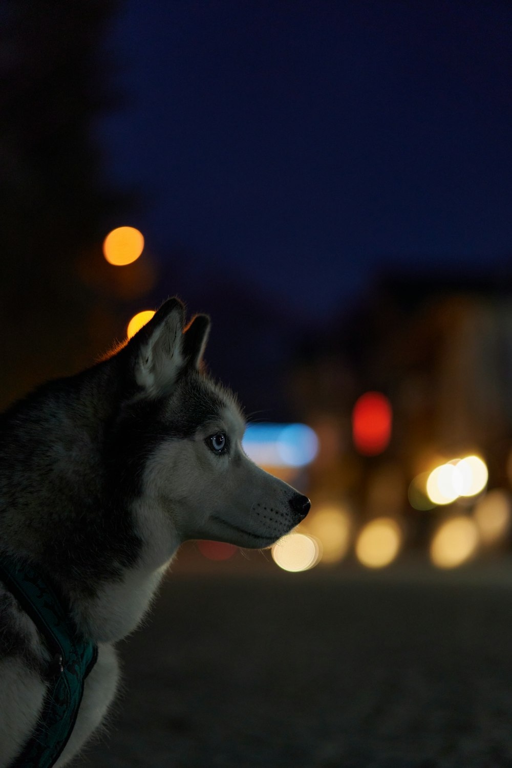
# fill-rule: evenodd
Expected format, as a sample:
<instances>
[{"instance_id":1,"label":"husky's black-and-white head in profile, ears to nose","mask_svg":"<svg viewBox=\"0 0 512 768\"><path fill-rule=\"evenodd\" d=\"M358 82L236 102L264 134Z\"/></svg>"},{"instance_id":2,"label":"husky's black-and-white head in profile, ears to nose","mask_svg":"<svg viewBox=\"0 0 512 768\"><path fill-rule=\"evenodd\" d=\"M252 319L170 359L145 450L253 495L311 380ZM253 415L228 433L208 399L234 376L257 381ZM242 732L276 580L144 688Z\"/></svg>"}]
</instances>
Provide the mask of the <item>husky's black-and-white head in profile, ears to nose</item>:
<instances>
[{"instance_id":1,"label":"husky's black-and-white head in profile, ears to nose","mask_svg":"<svg viewBox=\"0 0 512 768\"><path fill-rule=\"evenodd\" d=\"M209 331L206 315L186 325L173 298L119 353L129 379L116 430L123 482L143 527L159 518L179 541L266 547L306 516L309 499L243 451L236 398L203 371Z\"/></svg>"}]
</instances>

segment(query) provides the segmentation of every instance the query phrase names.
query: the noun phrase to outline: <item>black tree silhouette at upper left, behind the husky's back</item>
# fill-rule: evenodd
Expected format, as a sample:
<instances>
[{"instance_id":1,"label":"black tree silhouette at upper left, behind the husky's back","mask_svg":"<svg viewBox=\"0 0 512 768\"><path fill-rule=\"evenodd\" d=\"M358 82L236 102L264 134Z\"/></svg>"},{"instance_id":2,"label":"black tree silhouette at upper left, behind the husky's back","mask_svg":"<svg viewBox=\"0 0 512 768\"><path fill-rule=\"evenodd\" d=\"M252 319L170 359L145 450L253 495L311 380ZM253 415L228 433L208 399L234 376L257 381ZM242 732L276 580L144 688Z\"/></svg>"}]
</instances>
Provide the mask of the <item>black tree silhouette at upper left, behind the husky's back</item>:
<instances>
[{"instance_id":1,"label":"black tree silhouette at upper left, behind the husky's back","mask_svg":"<svg viewBox=\"0 0 512 768\"><path fill-rule=\"evenodd\" d=\"M115 104L104 38L116 7L0 8L0 406L93 362L119 333L101 240L130 199L105 186L92 130Z\"/></svg>"}]
</instances>

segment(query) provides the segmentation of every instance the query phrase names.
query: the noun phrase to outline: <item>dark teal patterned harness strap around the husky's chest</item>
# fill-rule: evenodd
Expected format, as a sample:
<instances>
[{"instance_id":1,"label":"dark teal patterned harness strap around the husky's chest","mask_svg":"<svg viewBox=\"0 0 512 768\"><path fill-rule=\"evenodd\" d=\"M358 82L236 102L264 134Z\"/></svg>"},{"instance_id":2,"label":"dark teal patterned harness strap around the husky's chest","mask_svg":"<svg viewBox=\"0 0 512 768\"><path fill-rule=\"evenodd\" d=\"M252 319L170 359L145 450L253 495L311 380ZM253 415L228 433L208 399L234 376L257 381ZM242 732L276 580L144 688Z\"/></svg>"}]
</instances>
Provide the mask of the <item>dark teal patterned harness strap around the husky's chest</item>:
<instances>
[{"instance_id":1,"label":"dark teal patterned harness strap around the husky's chest","mask_svg":"<svg viewBox=\"0 0 512 768\"><path fill-rule=\"evenodd\" d=\"M8 768L51 768L77 719L84 680L97 660L97 646L78 634L55 588L29 565L0 557L3 581L45 637L53 657L43 709L27 743Z\"/></svg>"}]
</instances>

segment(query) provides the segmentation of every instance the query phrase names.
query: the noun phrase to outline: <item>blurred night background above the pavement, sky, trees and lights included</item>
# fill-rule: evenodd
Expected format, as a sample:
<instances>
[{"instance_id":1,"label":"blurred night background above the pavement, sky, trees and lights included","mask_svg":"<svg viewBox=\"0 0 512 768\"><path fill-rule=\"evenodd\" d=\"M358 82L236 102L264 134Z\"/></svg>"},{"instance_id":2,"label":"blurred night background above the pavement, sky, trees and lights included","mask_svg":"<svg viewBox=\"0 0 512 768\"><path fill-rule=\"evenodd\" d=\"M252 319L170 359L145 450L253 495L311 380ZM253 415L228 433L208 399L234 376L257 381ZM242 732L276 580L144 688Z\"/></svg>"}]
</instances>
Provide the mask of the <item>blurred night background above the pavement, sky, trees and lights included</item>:
<instances>
[{"instance_id":1,"label":"blurred night background above the pavement, sky, trees and lights included","mask_svg":"<svg viewBox=\"0 0 512 768\"><path fill-rule=\"evenodd\" d=\"M7 0L2 407L177 294L312 499L178 571L510 551L512 8Z\"/></svg>"}]
</instances>

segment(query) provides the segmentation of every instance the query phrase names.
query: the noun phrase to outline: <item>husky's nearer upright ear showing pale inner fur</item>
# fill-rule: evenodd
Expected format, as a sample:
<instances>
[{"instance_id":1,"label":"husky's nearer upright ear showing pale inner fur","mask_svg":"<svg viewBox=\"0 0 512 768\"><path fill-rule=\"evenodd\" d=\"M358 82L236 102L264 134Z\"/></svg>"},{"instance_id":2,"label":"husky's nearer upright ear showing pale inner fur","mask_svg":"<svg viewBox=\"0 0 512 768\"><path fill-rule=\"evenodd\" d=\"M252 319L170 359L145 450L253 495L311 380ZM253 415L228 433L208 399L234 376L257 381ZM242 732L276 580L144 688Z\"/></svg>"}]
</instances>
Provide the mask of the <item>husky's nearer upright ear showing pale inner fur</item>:
<instances>
[{"instance_id":1,"label":"husky's nearer upright ear showing pale inner fur","mask_svg":"<svg viewBox=\"0 0 512 768\"><path fill-rule=\"evenodd\" d=\"M147 396L170 392L187 360L183 355L185 307L177 297L167 300L150 322L130 339L135 382Z\"/></svg>"}]
</instances>

